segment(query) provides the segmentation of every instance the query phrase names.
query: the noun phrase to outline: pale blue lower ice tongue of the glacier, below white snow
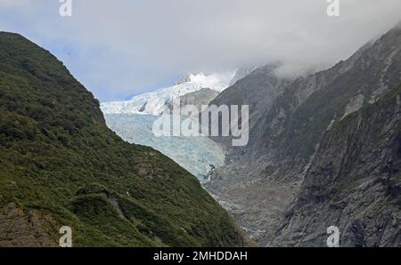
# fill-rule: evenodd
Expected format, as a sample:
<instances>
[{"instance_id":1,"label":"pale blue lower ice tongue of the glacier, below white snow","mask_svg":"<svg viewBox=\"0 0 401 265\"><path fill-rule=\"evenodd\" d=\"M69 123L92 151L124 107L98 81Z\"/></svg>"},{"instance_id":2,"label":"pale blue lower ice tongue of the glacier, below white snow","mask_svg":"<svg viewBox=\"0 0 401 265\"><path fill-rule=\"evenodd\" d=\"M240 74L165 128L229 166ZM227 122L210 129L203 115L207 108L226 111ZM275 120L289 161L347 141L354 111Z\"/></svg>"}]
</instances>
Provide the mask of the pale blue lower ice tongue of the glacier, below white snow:
<instances>
[{"instance_id":1,"label":"pale blue lower ice tongue of the glacier, below white snow","mask_svg":"<svg viewBox=\"0 0 401 265\"><path fill-rule=\"evenodd\" d=\"M159 116L144 114L105 114L106 123L123 140L159 150L199 180L204 180L210 165L224 165L225 153L208 137L156 137L151 132Z\"/></svg>"}]
</instances>

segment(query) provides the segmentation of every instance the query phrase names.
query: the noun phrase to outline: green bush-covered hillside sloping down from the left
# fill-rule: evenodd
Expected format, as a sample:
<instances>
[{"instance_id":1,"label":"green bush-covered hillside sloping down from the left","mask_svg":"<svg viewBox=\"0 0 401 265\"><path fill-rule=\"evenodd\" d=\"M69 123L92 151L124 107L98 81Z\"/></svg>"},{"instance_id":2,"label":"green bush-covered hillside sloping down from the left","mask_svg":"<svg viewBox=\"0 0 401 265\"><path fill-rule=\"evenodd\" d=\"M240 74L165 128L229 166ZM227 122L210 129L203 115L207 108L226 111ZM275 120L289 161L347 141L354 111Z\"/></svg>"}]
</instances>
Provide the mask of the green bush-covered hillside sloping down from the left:
<instances>
[{"instance_id":1,"label":"green bush-covered hillside sloping down from the left","mask_svg":"<svg viewBox=\"0 0 401 265\"><path fill-rule=\"evenodd\" d=\"M49 52L0 33L0 245L244 245L200 183L122 141Z\"/></svg>"}]
</instances>

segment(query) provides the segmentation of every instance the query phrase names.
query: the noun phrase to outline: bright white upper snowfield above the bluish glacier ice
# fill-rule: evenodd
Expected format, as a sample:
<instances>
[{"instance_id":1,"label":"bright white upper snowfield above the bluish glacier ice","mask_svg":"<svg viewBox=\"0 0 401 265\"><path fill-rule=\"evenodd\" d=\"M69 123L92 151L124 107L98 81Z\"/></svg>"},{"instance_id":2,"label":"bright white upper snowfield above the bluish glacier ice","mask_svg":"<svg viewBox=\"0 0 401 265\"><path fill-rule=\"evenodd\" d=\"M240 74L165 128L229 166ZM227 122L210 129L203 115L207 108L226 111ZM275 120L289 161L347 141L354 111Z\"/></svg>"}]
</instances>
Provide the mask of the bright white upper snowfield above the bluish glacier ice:
<instances>
[{"instance_id":1,"label":"bright white upper snowfield above the bluish glacier ice","mask_svg":"<svg viewBox=\"0 0 401 265\"><path fill-rule=\"evenodd\" d=\"M135 96L132 100L102 103L101 108L105 114L152 114L160 115L169 110L173 100L190 92L210 88L222 92L230 85L235 71L214 73L211 75L190 74L170 87L161 88L155 92L147 92Z\"/></svg>"}]
</instances>

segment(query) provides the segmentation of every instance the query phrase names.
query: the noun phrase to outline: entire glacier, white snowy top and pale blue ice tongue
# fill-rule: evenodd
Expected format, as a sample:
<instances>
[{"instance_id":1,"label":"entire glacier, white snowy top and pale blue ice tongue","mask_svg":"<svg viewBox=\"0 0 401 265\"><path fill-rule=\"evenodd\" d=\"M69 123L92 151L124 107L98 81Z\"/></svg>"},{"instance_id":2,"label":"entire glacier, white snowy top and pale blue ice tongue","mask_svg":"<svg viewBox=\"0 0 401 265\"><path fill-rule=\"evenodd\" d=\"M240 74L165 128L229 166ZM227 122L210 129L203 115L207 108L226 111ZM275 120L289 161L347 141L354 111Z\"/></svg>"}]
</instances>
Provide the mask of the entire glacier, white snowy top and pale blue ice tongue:
<instances>
[{"instance_id":1,"label":"entire glacier, white snowy top and pale blue ice tongue","mask_svg":"<svg viewBox=\"0 0 401 265\"><path fill-rule=\"evenodd\" d=\"M205 181L210 169L225 164L225 152L215 141L205 136L156 137L151 129L160 115L170 113L180 97L205 88L223 92L238 76L237 72L189 74L170 87L143 93L131 100L104 102L101 109L106 124L123 140L157 149Z\"/></svg>"}]
</instances>

